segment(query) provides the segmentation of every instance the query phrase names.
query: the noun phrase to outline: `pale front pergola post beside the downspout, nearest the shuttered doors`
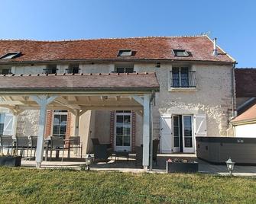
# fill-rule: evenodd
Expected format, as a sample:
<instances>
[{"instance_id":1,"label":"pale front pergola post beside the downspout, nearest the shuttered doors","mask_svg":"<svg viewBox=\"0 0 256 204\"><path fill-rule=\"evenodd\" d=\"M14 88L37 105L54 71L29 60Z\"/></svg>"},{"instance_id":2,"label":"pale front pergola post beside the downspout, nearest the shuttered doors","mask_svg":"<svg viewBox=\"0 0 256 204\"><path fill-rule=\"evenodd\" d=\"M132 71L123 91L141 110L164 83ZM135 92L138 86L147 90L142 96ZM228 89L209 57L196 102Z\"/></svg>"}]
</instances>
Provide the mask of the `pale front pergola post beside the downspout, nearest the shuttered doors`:
<instances>
[{"instance_id":1,"label":"pale front pergola post beside the downspout, nearest the shuttered doors","mask_svg":"<svg viewBox=\"0 0 256 204\"><path fill-rule=\"evenodd\" d=\"M143 116L143 160L142 165L144 170L147 171L149 165L149 152L150 152L150 101L151 95L144 94L144 116Z\"/></svg>"}]
</instances>

